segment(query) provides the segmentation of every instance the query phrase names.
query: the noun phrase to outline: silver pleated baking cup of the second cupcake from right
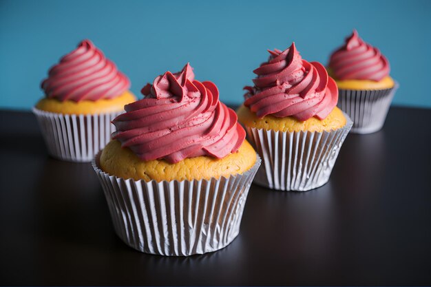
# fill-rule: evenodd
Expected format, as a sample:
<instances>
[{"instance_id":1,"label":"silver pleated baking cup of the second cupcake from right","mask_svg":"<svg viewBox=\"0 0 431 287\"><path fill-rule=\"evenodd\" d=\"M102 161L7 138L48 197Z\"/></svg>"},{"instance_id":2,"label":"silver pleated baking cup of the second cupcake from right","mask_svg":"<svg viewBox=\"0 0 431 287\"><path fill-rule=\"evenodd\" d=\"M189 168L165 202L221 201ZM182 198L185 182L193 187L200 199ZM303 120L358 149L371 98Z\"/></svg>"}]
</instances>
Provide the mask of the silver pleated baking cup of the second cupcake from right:
<instances>
[{"instance_id":1,"label":"silver pleated baking cup of the second cupcake from right","mask_svg":"<svg viewBox=\"0 0 431 287\"><path fill-rule=\"evenodd\" d=\"M246 127L262 165L254 182L280 191L308 191L329 180L339 149L353 123L330 131L273 131Z\"/></svg>"}]
</instances>

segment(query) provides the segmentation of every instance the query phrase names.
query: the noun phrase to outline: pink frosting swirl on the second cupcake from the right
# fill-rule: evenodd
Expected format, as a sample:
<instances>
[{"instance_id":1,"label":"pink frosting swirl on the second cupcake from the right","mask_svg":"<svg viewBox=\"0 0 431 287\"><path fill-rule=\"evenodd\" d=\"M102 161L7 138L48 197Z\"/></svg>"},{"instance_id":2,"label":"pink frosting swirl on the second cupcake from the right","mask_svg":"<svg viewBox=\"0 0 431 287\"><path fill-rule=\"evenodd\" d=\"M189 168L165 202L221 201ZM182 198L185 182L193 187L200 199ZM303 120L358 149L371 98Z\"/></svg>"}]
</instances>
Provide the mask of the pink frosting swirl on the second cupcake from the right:
<instances>
[{"instance_id":1,"label":"pink frosting swirl on the second cupcake from the right","mask_svg":"<svg viewBox=\"0 0 431 287\"><path fill-rule=\"evenodd\" d=\"M337 105L338 89L325 67L307 62L297 52L295 43L283 52L268 51L269 61L253 72L254 87L247 90L244 105L259 118L272 115L279 118L293 116L307 120L315 116L326 118Z\"/></svg>"}]
</instances>

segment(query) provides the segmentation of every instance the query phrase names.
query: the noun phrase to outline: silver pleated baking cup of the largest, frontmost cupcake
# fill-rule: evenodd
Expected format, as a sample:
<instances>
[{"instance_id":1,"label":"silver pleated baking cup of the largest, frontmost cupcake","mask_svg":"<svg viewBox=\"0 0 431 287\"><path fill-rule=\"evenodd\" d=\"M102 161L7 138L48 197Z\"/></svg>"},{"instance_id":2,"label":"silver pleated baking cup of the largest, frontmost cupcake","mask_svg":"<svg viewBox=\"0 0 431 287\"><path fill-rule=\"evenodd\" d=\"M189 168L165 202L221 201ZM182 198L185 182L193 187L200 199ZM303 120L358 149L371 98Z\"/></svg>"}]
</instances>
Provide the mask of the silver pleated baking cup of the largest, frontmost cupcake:
<instances>
[{"instance_id":1,"label":"silver pleated baking cup of the largest, frontmost cupcake","mask_svg":"<svg viewBox=\"0 0 431 287\"><path fill-rule=\"evenodd\" d=\"M189 256L231 243L240 223L260 157L229 178L156 182L117 178L92 162L109 206L114 230L125 244L156 255Z\"/></svg>"}]
</instances>

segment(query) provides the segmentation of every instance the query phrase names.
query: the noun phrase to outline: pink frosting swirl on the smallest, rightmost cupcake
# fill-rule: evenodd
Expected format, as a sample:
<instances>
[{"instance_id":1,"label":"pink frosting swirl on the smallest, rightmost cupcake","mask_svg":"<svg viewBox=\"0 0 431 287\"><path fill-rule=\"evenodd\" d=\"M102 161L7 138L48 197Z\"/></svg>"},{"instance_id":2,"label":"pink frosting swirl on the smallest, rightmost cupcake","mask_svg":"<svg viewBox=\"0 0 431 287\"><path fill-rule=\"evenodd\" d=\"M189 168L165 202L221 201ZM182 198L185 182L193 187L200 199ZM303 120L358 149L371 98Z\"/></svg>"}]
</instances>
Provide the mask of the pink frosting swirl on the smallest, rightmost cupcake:
<instances>
[{"instance_id":1,"label":"pink frosting swirl on the smallest, rightmost cupcake","mask_svg":"<svg viewBox=\"0 0 431 287\"><path fill-rule=\"evenodd\" d=\"M380 81L390 70L386 57L359 38L356 30L333 52L328 66L339 80Z\"/></svg>"}]
</instances>

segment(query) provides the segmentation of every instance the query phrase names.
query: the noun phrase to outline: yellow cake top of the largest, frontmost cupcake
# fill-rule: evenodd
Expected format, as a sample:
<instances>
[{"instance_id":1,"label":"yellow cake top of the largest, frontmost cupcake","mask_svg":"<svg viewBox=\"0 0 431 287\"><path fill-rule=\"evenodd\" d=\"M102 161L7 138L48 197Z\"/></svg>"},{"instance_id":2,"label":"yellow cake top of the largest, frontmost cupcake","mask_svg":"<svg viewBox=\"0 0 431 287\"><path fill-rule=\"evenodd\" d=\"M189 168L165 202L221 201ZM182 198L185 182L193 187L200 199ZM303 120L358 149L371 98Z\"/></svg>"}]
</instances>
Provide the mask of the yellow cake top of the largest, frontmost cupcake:
<instances>
[{"instance_id":1,"label":"yellow cake top of the largest, frontmost cupcake","mask_svg":"<svg viewBox=\"0 0 431 287\"><path fill-rule=\"evenodd\" d=\"M253 167L256 153L246 140L238 151L218 159L211 156L185 158L180 162L166 160L143 161L129 148L122 148L118 140L112 140L103 149L99 167L118 178L134 180L201 180L242 174Z\"/></svg>"}]
</instances>

